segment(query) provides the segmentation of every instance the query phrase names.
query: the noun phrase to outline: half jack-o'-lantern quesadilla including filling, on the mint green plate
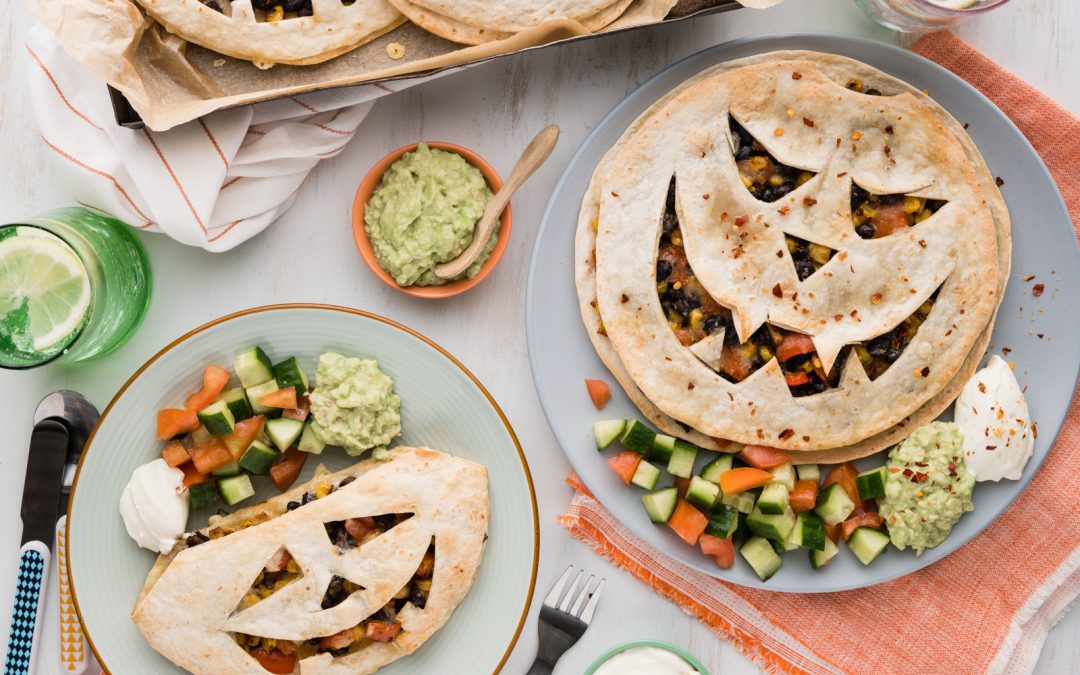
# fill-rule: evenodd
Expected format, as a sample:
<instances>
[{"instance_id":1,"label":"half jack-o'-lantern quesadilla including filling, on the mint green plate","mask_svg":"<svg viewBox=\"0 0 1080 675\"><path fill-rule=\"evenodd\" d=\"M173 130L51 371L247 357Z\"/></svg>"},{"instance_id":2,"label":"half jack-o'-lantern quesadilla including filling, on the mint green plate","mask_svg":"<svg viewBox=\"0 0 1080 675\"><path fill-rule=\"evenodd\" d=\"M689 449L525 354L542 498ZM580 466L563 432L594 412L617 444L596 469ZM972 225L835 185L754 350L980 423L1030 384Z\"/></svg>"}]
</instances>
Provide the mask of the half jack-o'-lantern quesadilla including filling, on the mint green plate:
<instances>
[{"instance_id":1,"label":"half jack-o'-lantern quesadilla including filling, on the mint green plate","mask_svg":"<svg viewBox=\"0 0 1080 675\"><path fill-rule=\"evenodd\" d=\"M212 518L147 579L133 619L192 673L372 673L461 603L487 539L484 467L394 448Z\"/></svg>"}]
</instances>

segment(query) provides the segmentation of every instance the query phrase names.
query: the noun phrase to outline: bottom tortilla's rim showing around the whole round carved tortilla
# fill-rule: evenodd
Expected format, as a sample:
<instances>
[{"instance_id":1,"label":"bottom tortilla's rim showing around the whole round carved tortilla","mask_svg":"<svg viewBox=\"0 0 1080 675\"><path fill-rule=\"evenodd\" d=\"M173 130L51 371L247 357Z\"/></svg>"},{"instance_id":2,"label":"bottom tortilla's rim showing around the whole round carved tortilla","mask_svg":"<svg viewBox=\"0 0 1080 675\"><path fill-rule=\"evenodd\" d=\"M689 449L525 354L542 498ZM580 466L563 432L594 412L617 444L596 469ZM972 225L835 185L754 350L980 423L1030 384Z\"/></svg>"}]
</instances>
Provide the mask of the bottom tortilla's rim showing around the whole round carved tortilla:
<instances>
[{"instance_id":1,"label":"bottom tortilla's rim showing around the whole round carved tortilla","mask_svg":"<svg viewBox=\"0 0 1080 675\"><path fill-rule=\"evenodd\" d=\"M639 130L653 114L663 110L666 104L679 95L683 91L691 87L697 82L728 70L748 65L787 59L811 60L821 72L826 73L839 83L843 83L849 78L854 76L863 79L867 86L874 86L883 91L886 94L894 95L905 92L909 93L918 98L922 105L932 110L941 123L944 124L948 132L958 140L962 152L967 156L968 163L974 167L975 179L981 186L983 197L986 202L985 207L991 215L996 234L995 239L997 241L996 273L998 279L998 298L1001 296L1004 287L1004 281L1008 278L1011 244L1009 217L1004 202L1001 199L1000 192L994 185L994 179L986 168L985 162L980 156L977 149L974 147L974 144L967 136L967 134L963 133L960 124L957 123L956 120L945 112L944 109L942 109L937 104L933 103L927 95L918 92L913 86L904 82L866 66L865 64L839 56L809 52L764 54L737 62L729 62L710 68L691 80L688 80L679 87L669 93L664 98L657 102L657 104L654 104L649 110L644 112L598 165L583 202L579 218L576 241L576 273L582 319L584 320L586 329L589 330L590 338L593 340L602 360L606 363L606 365L608 365L609 369L611 369L612 374L616 376L616 379L618 379L620 384L622 384L626 390L627 395L642 409L643 414L650 419L650 421L666 433L687 438L698 445L701 445L702 447L708 447L711 449L737 450L741 447L741 445L725 441L716 442L711 436L705 436L692 428L688 430L686 424L675 420L673 417L660 410L660 408L650 402L634 383L630 374L619 360L618 354L616 354L615 350L611 348L608 339L597 332L599 326L599 316L592 306L593 298L595 297L595 274L592 267L591 252L593 249L593 242L595 241L593 224L598 213L597 203L599 201L599 184L608 171L610 171L612 159L619 156L620 149L629 143L629 139L635 138L636 131ZM758 137L760 138L761 136L758 135ZM868 437L843 444L839 447L805 451L800 454L799 461L843 461L869 455L881 449L882 447L897 442L906 436L915 427L932 419L933 417L936 417L951 403L959 392L959 389L977 367L978 361L985 352L986 345L989 340L990 329L993 327L991 324L991 321L987 322L981 335L974 339L970 352L967 354L967 357L962 359L962 363L957 368L953 379L948 381L936 395L927 401L927 403L914 411L908 418L899 420L895 426L889 429L877 432Z\"/></svg>"}]
</instances>

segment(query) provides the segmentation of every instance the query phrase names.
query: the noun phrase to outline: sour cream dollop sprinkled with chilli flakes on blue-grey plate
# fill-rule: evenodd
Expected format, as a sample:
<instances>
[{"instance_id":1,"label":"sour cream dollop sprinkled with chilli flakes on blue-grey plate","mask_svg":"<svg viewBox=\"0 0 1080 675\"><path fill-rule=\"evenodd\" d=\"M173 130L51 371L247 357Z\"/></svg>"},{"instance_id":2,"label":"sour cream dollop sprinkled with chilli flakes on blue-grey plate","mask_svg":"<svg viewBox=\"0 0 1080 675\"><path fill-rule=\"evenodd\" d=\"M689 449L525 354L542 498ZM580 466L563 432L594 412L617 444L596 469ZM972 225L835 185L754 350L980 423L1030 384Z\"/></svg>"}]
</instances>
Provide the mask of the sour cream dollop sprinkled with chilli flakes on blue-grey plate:
<instances>
[{"instance_id":1,"label":"sour cream dollop sprinkled with chilli flakes on blue-grey plate","mask_svg":"<svg viewBox=\"0 0 1080 675\"><path fill-rule=\"evenodd\" d=\"M963 433L963 460L976 481L1020 478L1035 433L1024 392L1001 356L990 356L964 384L954 419Z\"/></svg>"}]
</instances>

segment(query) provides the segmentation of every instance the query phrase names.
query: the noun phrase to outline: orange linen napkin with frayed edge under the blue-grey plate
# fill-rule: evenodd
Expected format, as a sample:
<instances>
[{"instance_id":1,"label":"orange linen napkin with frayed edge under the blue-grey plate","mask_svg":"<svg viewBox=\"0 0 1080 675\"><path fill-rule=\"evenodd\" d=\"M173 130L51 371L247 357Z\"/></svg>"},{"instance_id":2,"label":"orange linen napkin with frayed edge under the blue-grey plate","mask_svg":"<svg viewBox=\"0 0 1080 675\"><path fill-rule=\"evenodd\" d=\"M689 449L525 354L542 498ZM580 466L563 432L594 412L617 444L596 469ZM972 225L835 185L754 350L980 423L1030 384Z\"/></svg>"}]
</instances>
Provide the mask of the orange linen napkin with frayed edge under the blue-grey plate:
<instances>
[{"instance_id":1,"label":"orange linen napkin with frayed edge under the blue-grey plate","mask_svg":"<svg viewBox=\"0 0 1080 675\"><path fill-rule=\"evenodd\" d=\"M1080 232L1080 120L950 33L915 51L957 72L1020 126ZM746 657L782 673L1030 672L1047 632L1080 594L1080 395L1020 498L982 535L918 572L860 591L745 589L649 548L577 475L564 527L678 604Z\"/></svg>"}]
</instances>

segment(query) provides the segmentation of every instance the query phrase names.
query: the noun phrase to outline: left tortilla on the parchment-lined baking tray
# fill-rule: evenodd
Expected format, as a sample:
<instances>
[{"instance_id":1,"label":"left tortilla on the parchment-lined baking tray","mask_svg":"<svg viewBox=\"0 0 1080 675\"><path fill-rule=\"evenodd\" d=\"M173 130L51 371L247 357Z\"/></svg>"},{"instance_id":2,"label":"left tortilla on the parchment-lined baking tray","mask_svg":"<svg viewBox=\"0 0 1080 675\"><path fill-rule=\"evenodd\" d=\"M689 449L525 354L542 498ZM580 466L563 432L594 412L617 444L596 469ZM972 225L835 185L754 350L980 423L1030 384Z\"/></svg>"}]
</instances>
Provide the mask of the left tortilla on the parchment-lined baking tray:
<instances>
[{"instance_id":1,"label":"left tortilla on the parchment-lined baking tray","mask_svg":"<svg viewBox=\"0 0 1080 675\"><path fill-rule=\"evenodd\" d=\"M312 16L258 22L252 0L218 0L225 13L199 0L138 0L170 32L228 56L307 66L322 63L384 35L405 22L387 0L312 0Z\"/></svg>"}]
</instances>

